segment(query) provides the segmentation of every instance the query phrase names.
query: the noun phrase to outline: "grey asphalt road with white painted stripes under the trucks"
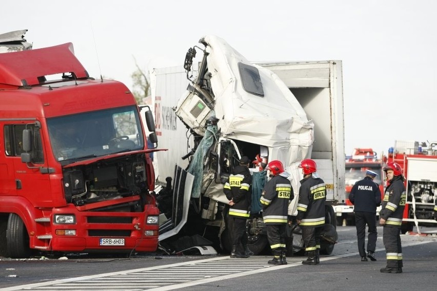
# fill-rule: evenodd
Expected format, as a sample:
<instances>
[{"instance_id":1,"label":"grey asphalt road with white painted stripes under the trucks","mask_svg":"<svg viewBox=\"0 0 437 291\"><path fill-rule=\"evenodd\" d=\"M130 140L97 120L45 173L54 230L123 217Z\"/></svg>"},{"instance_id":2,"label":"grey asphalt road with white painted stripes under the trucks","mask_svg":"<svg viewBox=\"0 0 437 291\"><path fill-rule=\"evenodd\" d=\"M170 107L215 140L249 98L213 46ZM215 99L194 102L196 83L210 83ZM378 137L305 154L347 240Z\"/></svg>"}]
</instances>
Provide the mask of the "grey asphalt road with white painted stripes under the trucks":
<instances>
[{"instance_id":1,"label":"grey asphalt road with white painted stripes under the trucks","mask_svg":"<svg viewBox=\"0 0 437 291\"><path fill-rule=\"evenodd\" d=\"M422 232L434 231L435 233L435 228L421 228L421 230ZM231 259L233 260L231 266L226 265L222 269L217 267L213 271L215 274L211 276L204 276L208 272L205 266L209 268L214 262L217 266L218 264L223 266L225 262L230 261L228 256L218 255L211 258L210 256L148 254L135 255L131 258L69 256L67 260L60 260L56 257L49 259L36 257L26 260L0 258L0 290L18 290L24 288L25 284L35 285L35 283L41 284L60 279L68 281L70 278L75 279L69 283L69 287L62 289L79 290L82 287L79 287L81 284L78 277L104 274L95 277L105 277L107 280L112 280L106 282L114 282L117 276L140 274L141 272L154 271L154 274L159 276L169 269L166 265L170 264L173 265L173 268L177 265L180 270L183 270L183 267L190 267L190 276L199 275L198 278L202 278L203 283L198 284L201 282L200 279L189 279L184 284L173 284L170 283L169 277L162 279L155 277L155 281L168 282L165 286L144 288L140 286L139 279L130 279L130 281L123 279L122 287L116 288L115 283L107 283L112 285L101 285L100 288L109 290L112 286L112 289L126 290L130 286L129 282L132 282L133 285L137 286L137 290L435 290L437 286L437 236L435 234L426 236L403 235L404 273L382 274L379 271L385 266L382 227L378 227L378 231L379 239L376 252L378 261L376 262L361 262L354 241L355 227L339 226L339 243L335 246L331 256L322 257L320 265L302 265L300 263L302 257L289 258L288 265L279 267L262 267L262 265L266 265L265 261L269 257L251 257L242 261ZM208 262L202 263L203 265L196 263L200 260ZM188 262L189 264L187 264ZM259 265L259 268L255 267L251 268L251 271L245 271L250 262ZM200 268L195 269L196 265ZM241 268L241 271L228 274L231 268ZM146 271L146 269L152 271ZM223 271L224 273L221 275L222 271L220 270L229 272ZM120 271L123 271L123 274ZM177 271L175 274L183 272ZM114 274L113 276L105 275L107 273ZM125 284L124 287L123 284ZM58 286L60 290L61 285ZM57 290L56 288L54 286L26 287L26 289L38 290ZM96 288L98 288L97 285L92 289Z\"/></svg>"}]
</instances>

